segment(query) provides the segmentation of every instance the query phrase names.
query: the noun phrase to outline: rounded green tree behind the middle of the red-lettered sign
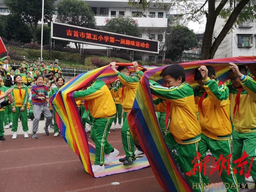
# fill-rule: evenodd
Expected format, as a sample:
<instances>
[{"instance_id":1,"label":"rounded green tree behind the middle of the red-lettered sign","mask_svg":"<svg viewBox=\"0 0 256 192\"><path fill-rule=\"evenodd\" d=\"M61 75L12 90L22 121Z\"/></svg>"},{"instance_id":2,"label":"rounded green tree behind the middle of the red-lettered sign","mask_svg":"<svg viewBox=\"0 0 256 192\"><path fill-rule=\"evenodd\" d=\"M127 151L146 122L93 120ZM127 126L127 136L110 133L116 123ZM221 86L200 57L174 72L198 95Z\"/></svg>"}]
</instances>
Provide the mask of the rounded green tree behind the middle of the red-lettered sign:
<instances>
[{"instance_id":1,"label":"rounded green tree behind the middle of the red-lettered sign","mask_svg":"<svg viewBox=\"0 0 256 192\"><path fill-rule=\"evenodd\" d=\"M119 33L123 35L129 35L139 37L141 30L138 27L138 23L131 17L113 17L106 20L106 25L103 26L104 31Z\"/></svg>"}]
</instances>

